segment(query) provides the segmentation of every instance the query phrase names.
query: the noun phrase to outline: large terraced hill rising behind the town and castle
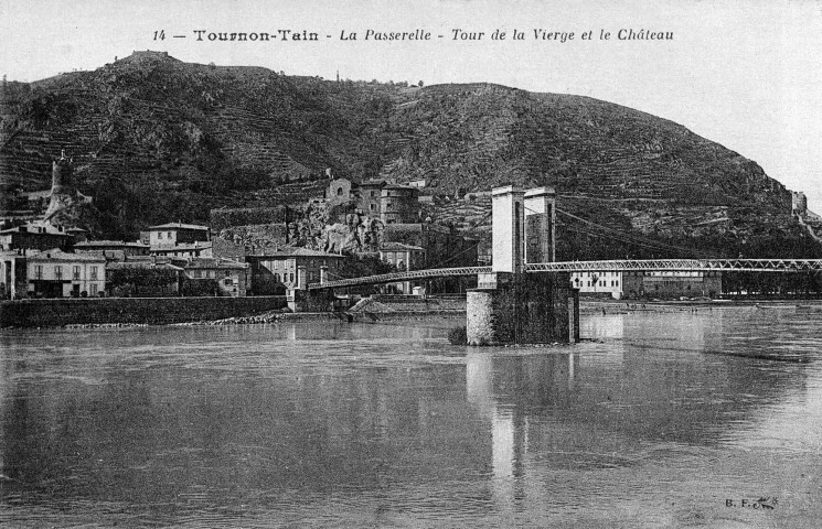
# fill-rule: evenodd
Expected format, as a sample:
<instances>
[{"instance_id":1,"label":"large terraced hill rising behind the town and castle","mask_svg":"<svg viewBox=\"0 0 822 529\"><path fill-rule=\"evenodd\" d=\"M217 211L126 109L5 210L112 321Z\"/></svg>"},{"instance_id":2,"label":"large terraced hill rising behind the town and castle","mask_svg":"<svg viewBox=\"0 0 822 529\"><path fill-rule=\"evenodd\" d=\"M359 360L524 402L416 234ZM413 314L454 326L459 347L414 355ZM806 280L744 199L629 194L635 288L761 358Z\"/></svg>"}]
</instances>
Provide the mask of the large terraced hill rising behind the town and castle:
<instances>
[{"instance_id":1,"label":"large terraced hill rising behind the town and castle","mask_svg":"<svg viewBox=\"0 0 822 529\"><path fill-rule=\"evenodd\" d=\"M157 52L2 90L0 183L47 186L51 160L65 149L81 191L95 197L92 228L103 237L205 222L222 206L301 199L331 168L354 181L424 177L433 193L451 196L552 185L575 216L676 246L818 251L790 216L789 192L755 162L674 122L588 97L331 82ZM470 227L449 208L433 213ZM566 222L569 255L640 252Z\"/></svg>"}]
</instances>

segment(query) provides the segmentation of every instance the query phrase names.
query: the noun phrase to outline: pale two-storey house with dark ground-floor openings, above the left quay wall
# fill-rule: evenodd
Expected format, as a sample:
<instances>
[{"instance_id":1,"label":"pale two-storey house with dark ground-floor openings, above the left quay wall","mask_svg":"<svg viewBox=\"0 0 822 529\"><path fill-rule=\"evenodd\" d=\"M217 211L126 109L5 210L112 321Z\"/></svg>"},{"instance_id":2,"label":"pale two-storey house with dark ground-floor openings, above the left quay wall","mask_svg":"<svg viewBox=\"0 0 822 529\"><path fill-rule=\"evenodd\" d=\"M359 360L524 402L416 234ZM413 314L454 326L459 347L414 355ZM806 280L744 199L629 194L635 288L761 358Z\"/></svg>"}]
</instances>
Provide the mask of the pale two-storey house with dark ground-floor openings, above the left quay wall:
<instances>
[{"instance_id":1,"label":"pale two-storey house with dark ground-floor openings, above the left quay wall","mask_svg":"<svg viewBox=\"0 0 822 529\"><path fill-rule=\"evenodd\" d=\"M28 257L26 279L30 296L96 296L106 290L106 259L53 248Z\"/></svg>"}]
</instances>

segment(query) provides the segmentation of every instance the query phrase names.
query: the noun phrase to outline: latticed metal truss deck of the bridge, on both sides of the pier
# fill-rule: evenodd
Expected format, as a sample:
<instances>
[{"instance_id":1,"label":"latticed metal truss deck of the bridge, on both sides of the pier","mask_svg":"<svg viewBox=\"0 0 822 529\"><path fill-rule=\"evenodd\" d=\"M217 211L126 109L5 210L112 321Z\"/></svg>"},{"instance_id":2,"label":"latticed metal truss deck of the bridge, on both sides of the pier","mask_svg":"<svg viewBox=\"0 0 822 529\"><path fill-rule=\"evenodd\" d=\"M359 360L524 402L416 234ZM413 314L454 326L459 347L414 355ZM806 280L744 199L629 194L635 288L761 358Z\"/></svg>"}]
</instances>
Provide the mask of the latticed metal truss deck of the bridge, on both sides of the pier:
<instances>
[{"instance_id":1,"label":"latticed metal truss deck of the bridge, on both sides of the pier","mask_svg":"<svg viewBox=\"0 0 822 529\"><path fill-rule=\"evenodd\" d=\"M807 272L821 271L822 259L618 259L525 264L526 272ZM436 268L312 283L309 290L396 283L418 279L491 273L491 267Z\"/></svg>"}]
</instances>

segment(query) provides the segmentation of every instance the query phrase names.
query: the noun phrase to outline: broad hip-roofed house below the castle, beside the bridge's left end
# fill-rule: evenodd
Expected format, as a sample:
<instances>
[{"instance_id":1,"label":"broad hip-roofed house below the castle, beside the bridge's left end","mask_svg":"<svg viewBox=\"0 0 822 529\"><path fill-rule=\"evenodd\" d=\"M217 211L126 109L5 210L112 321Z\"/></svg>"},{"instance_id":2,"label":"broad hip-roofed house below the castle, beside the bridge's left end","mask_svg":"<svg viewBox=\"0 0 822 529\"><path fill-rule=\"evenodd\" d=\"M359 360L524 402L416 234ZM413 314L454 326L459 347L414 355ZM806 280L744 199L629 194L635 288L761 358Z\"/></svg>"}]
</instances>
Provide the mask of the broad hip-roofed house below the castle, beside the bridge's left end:
<instances>
[{"instance_id":1,"label":"broad hip-roofed house below the castle, beside the bridge's left end","mask_svg":"<svg viewBox=\"0 0 822 529\"><path fill-rule=\"evenodd\" d=\"M252 295L284 294L297 287L297 273L306 268L306 280L320 282L320 268L328 267L329 279L338 279L344 256L307 248L284 248L265 255L246 256L250 264Z\"/></svg>"}]
</instances>

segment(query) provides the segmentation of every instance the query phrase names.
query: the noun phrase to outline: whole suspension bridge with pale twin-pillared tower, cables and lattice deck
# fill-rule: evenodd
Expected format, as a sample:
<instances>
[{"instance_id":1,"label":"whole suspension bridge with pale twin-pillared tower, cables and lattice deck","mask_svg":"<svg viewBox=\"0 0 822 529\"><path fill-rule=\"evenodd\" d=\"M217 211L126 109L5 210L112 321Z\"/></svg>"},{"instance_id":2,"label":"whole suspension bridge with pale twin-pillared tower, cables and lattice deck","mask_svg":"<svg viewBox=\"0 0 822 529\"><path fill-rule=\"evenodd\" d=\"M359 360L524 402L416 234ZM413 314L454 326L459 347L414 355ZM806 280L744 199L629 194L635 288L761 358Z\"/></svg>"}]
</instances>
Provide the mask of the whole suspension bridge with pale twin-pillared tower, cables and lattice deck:
<instances>
[{"instance_id":1,"label":"whole suspension bridge with pale twin-pillared tower, cables and lattice deck","mask_svg":"<svg viewBox=\"0 0 822 529\"><path fill-rule=\"evenodd\" d=\"M578 291L570 285L573 272L814 272L822 259L719 259L700 250L690 259L616 259L556 261L556 195L552 188L520 191L513 186L492 191L492 264L408 270L308 284L298 270L298 288L289 293L293 310L317 306L334 289L452 277L477 277L478 288L467 293L469 344L575 342L579 338ZM565 212L561 214L593 223ZM606 236L658 250L688 251L659 241L642 240L613 228L593 225ZM589 231L590 233L590 231ZM298 294L297 291L301 291ZM312 294L313 293L313 294ZM301 304L300 304L301 302Z\"/></svg>"}]
</instances>

